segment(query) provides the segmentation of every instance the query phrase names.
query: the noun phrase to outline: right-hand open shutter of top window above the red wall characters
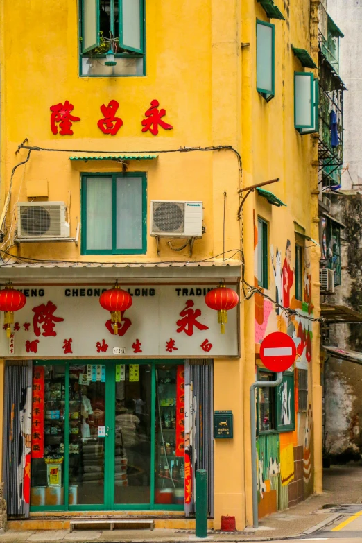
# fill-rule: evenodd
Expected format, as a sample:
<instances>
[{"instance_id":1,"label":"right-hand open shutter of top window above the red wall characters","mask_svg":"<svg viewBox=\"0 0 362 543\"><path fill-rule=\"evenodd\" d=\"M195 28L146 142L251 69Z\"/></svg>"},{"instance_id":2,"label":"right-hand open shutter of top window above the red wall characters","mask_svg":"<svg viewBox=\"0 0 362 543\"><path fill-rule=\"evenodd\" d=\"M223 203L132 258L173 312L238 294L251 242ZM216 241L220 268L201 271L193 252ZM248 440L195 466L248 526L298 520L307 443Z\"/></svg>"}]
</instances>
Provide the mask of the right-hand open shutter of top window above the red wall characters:
<instances>
[{"instance_id":1,"label":"right-hand open shutter of top window above the red wall characters","mask_svg":"<svg viewBox=\"0 0 362 543\"><path fill-rule=\"evenodd\" d=\"M144 53L144 0L119 0L119 46Z\"/></svg>"}]
</instances>

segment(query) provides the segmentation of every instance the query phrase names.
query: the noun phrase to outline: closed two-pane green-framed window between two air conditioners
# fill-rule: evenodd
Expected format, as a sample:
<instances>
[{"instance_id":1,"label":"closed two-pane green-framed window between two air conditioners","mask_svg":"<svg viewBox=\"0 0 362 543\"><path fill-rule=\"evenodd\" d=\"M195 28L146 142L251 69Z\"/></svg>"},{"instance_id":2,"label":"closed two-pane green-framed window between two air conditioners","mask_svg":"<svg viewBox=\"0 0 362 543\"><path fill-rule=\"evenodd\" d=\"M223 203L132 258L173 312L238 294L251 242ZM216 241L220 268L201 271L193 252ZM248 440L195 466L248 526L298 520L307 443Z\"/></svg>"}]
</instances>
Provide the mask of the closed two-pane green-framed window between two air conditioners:
<instances>
[{"instance_id":1,"label":"closed two-pane green-framed window between two air conditioners","mask_svg":"<svg viewBox=\"0 0 362 543\"><path fill-rule=\"evenodd\" d=\"M82 254L145 254L146 205L145 173L83 174Z\"/></svg>"}]
</instances>

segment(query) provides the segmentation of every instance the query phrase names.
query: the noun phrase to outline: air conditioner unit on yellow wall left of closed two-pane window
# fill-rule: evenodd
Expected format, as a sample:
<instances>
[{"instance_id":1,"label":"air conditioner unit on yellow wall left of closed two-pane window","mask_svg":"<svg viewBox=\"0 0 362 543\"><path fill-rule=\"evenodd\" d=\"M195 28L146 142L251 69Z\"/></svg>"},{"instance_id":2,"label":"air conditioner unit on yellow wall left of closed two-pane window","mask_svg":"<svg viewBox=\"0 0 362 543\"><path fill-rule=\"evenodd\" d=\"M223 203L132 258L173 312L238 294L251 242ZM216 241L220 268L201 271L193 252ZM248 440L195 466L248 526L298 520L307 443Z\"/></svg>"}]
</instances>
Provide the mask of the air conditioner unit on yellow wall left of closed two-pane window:
<instances>
[{"instance_id":1,"label":"air conditioner unit on yellow wall left of closed two-pane window","mask_svg":"<svg viewBox=\"0 0 362 543\"><path fill-rule=\"evenodd\" d=\"M64 202L18 202L17 239L69 238Z\"/></svg>"}]
</instances>

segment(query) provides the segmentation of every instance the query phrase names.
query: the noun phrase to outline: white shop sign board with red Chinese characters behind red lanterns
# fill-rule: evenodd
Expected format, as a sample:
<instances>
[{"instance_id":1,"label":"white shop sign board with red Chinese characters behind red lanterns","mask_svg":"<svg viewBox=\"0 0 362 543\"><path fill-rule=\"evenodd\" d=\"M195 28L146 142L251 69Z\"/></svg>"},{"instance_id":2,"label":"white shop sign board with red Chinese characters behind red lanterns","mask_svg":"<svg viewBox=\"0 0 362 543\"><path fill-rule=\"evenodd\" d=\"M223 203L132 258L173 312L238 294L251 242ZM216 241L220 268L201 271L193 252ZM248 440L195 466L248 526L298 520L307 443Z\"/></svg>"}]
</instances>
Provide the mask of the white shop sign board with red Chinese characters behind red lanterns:
<instances>
[{"instance_id":1,"label":"white shop sign board with red Chinese characters behind red lanterns","mask_svg":"<svg viewBox=\"0 0 362 543\"><path fill-rule=\"evenodd\" d=\"M207 289L214 286L122 286L132 294L133 303L123 314L117 336L107 328L110 313L99 303L100 293L110 286L16 288L26 295L26 305L15 312L13 349L1 312L0 356L6 358L238 355L239 307L227 311L225 334L221 334L217 311L205 304Z\"/></svg>"}]
</instances>

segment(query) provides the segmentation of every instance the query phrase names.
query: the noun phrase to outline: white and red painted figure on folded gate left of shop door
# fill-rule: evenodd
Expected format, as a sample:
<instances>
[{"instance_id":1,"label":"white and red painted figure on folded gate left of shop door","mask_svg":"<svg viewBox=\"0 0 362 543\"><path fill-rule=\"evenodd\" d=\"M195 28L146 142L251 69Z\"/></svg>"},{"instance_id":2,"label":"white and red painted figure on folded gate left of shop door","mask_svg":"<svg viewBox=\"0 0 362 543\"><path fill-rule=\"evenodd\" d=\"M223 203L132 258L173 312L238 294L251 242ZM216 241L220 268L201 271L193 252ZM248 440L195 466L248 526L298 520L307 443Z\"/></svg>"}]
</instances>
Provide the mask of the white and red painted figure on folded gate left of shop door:
<instances>
[{"instance_id":1,"label":"white and red painted figure on folded gate left of shop door","mask_svg":"<svg viewBox=\"0 0 362 543\"><path fill-rule=\"evenodd\" d=\"M21 429L21 456L17 466L17 501L30 502L31 466L31 386L21 389L19 422Z\"/></svg>"}]
</instances>

